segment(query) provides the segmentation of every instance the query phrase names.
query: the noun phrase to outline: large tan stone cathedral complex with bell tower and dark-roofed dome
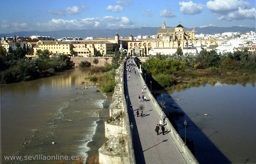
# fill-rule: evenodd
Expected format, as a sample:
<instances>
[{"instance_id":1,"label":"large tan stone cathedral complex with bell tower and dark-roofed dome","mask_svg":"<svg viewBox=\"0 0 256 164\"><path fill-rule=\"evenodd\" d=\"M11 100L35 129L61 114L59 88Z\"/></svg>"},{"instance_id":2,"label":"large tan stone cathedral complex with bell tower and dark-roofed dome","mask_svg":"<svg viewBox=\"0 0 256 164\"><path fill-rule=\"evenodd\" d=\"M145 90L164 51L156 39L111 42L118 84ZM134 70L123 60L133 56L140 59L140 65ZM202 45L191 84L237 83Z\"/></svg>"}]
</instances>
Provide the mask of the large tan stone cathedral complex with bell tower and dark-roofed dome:
<instances>
[{"instance_id":1,"label":"large tan stone cathedral complex with bell tower and dark-roofed dome","mask_svg":"<svg viewBox=\"0 0 256 164\"><path fill-rule=\"evenodd\" d=\"M133 41L133 37L130 35L129 39L132 41L128 41L128 52L132 56L144 56L145 48L147 54L153 54L153 51L163 51L166 52L165 54L172 54L177 51L178 47L183 49L186 43L201 43L201 45L219 45L221 43L213 38L208 40L196 39L195 28L191 31L185 31L181 23L175 28L166 28L165 21L163 21L162 28L158 29L156 38Z\"/></svg>"}]
</instances>

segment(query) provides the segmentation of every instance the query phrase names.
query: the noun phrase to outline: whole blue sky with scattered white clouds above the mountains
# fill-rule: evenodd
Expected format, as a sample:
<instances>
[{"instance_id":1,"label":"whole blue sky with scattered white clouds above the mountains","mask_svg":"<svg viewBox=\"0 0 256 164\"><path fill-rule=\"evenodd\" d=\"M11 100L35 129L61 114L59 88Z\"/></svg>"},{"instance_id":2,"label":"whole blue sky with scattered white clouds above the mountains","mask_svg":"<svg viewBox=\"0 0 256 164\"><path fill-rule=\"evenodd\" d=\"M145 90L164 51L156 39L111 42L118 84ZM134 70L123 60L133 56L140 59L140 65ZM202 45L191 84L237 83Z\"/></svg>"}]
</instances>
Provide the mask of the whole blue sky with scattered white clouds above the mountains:
<instances>
[{"instance_id":1,"label":"whole blue sky with scattered white clouds above the mountains","mask_svg":"<svg viewBox=\"0 0 256 164\"><path fill-rule=\"evenodd\" d=\"M1 2L0 33L181 25L255 27L255 0L9 0Z\"/></svg>"}]
</instances>

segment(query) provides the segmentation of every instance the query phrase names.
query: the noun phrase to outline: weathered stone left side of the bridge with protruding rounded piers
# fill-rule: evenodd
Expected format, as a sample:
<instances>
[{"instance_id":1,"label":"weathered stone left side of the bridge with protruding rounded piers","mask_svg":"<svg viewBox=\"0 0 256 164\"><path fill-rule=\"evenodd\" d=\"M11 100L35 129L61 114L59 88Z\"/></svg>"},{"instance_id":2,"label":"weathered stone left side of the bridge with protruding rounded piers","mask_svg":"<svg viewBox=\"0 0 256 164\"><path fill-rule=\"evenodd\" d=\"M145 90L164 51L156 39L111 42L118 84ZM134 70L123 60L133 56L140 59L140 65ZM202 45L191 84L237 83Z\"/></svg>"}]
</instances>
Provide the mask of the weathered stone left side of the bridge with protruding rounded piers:
<instances>
[{"instance_id":1,"label":"weathered stone left side of the bridge with protruding rounded piers","mask_svg":"<svg viewBox=\"0 0 256 164\"><path fill-rule=\"evenodd\" d=\"M105 136L109 140L99 148L100 164L135 164L130 120L124 95L122 63L116 70L117 85L109 106L109 115L105 121Z\"/></svg>"}]
</instances>

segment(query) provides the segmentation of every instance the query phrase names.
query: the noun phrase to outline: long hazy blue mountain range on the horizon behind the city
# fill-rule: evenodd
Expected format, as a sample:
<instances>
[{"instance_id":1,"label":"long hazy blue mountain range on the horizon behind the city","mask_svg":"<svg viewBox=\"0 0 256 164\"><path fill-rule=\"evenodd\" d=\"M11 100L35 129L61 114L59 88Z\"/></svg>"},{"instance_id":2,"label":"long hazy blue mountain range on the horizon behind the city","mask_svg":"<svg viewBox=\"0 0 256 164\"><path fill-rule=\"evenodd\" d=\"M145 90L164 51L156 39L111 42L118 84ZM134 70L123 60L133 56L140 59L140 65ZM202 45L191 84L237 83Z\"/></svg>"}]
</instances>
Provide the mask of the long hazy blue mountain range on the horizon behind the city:
<instances>
[{"instance_id":1,"label":"long hazy blue mountain range on the horizon behind the city","mask_svg":"<svg viewBox=\"0 0 256 164\"><path fill-rule=\"evenodd\" d=\"M11 37L11 36L32 36L32 35L40 35L40 36L51 36L55 38L62 38L62 37L109 37L114 38L116 32L119 36L127 37L130 33L133 36L144 36L144 35L156 35L157 30L160 27L141 27L141 28L134 28L134 29L106 29L106 30L61 30L61 31L21 31L21 32L13 32L13 33L1 33L0 36ZM174 28L174 27L167 27L167 28ZM185 28L186 30L192 30L193 28ZM214 34L214 33L223 33L223 32L242 32L245 33L247 31L255 31L255 28L249 27L214 27L214 26L207 26L207 27L196 27L195 34Z\"/></svg>"}]
</instances>

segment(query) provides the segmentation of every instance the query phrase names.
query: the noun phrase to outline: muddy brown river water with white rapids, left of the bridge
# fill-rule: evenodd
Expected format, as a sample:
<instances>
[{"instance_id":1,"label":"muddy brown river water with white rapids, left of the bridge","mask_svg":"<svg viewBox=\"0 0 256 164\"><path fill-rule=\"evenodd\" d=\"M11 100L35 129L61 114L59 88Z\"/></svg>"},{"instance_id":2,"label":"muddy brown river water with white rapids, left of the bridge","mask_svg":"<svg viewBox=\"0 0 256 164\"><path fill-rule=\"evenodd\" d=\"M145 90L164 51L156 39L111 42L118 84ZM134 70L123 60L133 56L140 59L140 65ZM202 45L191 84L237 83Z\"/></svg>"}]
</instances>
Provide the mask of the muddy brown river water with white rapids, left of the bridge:
<instances>
[{"instance_id":1,"label":"muddy brown river water with white rapids, left of the bridge","mask_svg":"<svg viewBox=\"0 0 256 164\"><path fill-rule=\"evenodd\" d=\"M96 129L104 127L112 98L111 94L96 92L99 88L81 89L96 85L85 80L89 70L74 68L52 77L1 84L3 163L13 162L4 160L4 155L79 155L86 159L88 143ZM106 141L104 131L95 136L99 146L93 152Z\"/></svg>"}]
</instances>

